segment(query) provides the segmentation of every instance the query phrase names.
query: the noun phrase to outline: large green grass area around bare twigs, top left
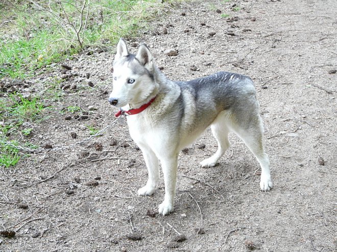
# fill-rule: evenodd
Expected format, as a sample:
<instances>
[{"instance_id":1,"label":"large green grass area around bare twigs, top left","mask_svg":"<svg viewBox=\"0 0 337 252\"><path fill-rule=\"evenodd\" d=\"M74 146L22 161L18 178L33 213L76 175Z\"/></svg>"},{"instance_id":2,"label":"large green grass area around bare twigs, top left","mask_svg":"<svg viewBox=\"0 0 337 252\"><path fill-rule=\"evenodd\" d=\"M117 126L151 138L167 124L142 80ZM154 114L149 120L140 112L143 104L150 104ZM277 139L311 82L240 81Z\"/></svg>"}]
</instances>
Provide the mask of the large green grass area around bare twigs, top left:
<instances>
[{"instance_id":1,"label":"large green grass area around bare twigs, top left","mask_svg":"<svg viewBox=\"0 0 337 252\"><path fill-rule=\"evenodd\" d=\"M163 10L158 0L90 1L78 39L69 23L79 30L83 1L35 1L39 6L26 0L6 3L0 6L0 23L5 22L0 28L0 78L14 79L27 78L88 45L112 46L119 37L135 37L148 19L159 17ZM103 40L109 43L103 45Z\"/></svg>"}]
</instances>

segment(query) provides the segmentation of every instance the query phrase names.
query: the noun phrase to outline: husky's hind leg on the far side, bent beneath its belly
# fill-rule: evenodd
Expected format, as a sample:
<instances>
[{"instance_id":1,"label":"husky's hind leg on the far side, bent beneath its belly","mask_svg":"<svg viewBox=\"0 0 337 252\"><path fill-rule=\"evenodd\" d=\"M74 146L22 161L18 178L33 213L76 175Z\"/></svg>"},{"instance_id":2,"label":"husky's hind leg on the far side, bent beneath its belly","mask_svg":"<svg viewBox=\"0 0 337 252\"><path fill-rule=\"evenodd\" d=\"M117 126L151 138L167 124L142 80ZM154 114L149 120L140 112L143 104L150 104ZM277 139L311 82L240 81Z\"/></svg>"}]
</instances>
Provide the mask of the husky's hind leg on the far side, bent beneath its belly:
<instances>
[{"instance_id":1,"label":"husky's hind leg on the far side, bent beneath its belly","mask_svg":"<svg viewBox=\"0 0 337 252\"><path fill-rule=\"evenodd\" d=\"M226 114L220 114L211 124L212 133L216 141L218 141L218 150L214 153L213 156L201 161L201 167L207 168L215 166L215 164L219 161L219 159L224 155L230 146L228 141L229 130L224 120L226 120Z\"/></svg>"}]
</instances>

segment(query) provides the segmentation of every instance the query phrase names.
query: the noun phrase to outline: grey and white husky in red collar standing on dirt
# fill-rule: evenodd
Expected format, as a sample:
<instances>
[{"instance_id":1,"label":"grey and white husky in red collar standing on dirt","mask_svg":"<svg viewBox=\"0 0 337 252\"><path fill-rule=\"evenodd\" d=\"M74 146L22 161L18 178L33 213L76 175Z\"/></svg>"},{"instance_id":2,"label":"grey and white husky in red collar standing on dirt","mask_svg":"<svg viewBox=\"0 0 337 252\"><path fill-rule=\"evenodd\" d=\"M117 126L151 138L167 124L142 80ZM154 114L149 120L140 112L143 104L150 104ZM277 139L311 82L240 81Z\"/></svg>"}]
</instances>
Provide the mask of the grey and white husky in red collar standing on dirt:
<instances>
[{"instance_id":1,"label":"grey and white husky in red collar standing on dirt","mask_svg":"<svg viewBox=\"0 0 337 252\"><path fill-rule=\"evenodd\" d=\"M202 167L215 166L228 149L228 133L233 131L261 166L261 190L272 188L259 103L250 77L218 72L190 81L171 81L156 67L146 44L140 44L137 54L132 54L121 38L113 62L112 86L109 103L120 108L116 117L127 116L130 135L148 169L148 181L138 195L154 193L159 161L162 166L165 195L158 208L160 214L174 210L179 152L208 126L218 141L218 150L201 161Z\"/></svg>"}]
</instances>

